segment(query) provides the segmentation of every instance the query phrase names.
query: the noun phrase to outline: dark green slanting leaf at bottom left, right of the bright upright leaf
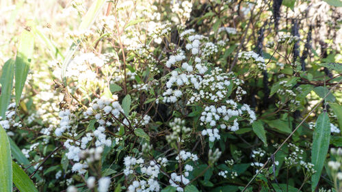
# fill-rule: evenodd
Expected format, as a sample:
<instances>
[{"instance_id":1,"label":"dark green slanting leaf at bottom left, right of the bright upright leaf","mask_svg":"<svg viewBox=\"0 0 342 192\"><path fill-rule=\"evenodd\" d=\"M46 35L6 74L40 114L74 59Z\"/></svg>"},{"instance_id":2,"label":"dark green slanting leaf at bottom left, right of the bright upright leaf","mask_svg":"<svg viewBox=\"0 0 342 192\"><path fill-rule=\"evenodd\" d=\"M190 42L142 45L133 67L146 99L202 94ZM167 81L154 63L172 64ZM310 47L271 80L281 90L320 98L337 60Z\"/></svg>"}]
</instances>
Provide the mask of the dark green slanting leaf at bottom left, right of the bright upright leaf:
<instances>
[{"instance_id":1,"label":"dark green slanting leaf at bottom left, right of the bright upright leaf","mask_svg":"<svg viewBox=\"0 0 342 192\"><path fill-rule=\"evenodd\" d=\"M36 187L34 186L34 182L25 174L23 169L19 167L14 161L12 161L12 169L13 169L13 182L16 185L16 188L21 192L38 192Z\"/></svg>"}]
</instances>

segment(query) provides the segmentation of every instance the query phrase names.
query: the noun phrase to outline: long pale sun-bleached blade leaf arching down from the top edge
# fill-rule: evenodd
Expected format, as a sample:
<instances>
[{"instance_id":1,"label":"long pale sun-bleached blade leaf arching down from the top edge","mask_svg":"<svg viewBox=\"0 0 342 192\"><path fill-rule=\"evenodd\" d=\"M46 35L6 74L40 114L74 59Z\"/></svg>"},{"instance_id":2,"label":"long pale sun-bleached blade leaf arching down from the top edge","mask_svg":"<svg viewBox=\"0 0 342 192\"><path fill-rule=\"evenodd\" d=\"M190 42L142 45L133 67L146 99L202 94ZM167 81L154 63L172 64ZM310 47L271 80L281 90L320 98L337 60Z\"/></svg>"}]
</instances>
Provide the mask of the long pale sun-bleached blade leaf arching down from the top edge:
<instances>
[{"instance_id":1,"label":"long pale sun-bleached blade leaf arching down from the top edge","mask_svg":"<svg viewBox=\"0 0 342 192\"><path fill-rule=\"evenodd\" d=\"M97 1L94 1L94 3L92 3L88 12L82 18L81 24L79 25L79 29L78 29L79 31L85 31L86 29L89 29L92 23L94 23L94 20L96 16L98 15L98 13L101 11L101 8L104 3L105 3L105 0L97 0ZM62 81L64 85L66 85L66 78L65 78L66 68L68 68L71 58L75 54L75 51L79 47L79 44L80 44L80 40L77 40L77 43L74 42L73 44L71 44L68 51L66 52L66 57L62 64Z\"/></svg>"}]
</instances>

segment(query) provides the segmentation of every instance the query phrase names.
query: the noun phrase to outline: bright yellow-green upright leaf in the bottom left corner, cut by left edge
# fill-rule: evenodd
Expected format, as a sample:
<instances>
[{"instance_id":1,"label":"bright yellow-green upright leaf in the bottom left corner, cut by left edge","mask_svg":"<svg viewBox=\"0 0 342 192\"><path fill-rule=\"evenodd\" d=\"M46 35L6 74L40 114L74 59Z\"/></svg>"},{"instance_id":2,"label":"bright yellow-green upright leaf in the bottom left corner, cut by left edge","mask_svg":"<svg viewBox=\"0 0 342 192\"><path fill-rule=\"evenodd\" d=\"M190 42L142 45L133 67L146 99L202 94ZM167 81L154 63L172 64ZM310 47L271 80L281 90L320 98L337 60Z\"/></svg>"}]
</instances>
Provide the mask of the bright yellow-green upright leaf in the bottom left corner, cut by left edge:
<instances>
[{"instance_id":1,"label":"bright yellow-green upright leaf in the bottom left corner, cut by left edge","mask_svg":"<svg viewBox=\"0 0 342 192\"><path fill-rule=\"evenodd\" d=\"M0 191L12 192L12 158L10 141L0 125Z\"/></svg>"}]
</instances>

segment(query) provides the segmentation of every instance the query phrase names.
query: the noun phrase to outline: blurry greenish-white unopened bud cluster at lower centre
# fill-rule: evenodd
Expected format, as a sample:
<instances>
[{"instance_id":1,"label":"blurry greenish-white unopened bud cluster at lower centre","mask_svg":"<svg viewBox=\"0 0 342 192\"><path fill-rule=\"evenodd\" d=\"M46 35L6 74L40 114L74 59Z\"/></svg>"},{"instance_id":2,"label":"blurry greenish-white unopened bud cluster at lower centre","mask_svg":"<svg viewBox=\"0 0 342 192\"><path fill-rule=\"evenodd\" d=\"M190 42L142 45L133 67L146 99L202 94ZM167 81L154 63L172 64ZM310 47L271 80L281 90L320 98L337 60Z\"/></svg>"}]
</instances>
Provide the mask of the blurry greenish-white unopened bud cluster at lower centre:
<instances>
[{"instance_id":1,"label":"blurry greenish-white unopened bud cluster at lower centre","mask_svg":"<svg viewBox=\"0 0 342 192\"><path fill-rule=\"evenodd\" d=\"M166 135L168 143L172 141L183 142L183 139L189 137L188 133L192 130L185 126L185 120L181 120L181 118L174 118L174 121L170 122L170 127L172 128L172 133Z\"/></svg>"}]
</instances>

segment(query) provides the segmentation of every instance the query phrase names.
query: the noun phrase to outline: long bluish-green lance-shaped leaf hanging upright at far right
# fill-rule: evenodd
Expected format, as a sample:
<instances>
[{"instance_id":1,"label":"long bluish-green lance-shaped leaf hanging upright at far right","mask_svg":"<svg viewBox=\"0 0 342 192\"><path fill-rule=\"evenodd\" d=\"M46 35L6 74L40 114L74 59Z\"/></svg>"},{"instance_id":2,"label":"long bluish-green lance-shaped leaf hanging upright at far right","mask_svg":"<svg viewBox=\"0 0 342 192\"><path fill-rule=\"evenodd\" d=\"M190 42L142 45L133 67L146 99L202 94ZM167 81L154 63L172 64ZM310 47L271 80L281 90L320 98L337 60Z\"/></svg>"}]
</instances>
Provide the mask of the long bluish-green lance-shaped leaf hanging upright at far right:
<instances>
[{"instance_id":1,"label":"long bluish-green lance-shaped leaf hanging upright at far right","mask_svg":"<svg viewBox=\"0 0 342 192\"><path fill-rule=\"evenodd\" d=\"M330 122L328 113L325 111L321 113L316 122L316 128L313 132L313 147L311 151L311 163L314 165L316 173L311 176L311 189L315 191L319 178L321 177L321 171L326 160L326 154L328 153L330 143Z\"/></svg>"}]
</instances>

